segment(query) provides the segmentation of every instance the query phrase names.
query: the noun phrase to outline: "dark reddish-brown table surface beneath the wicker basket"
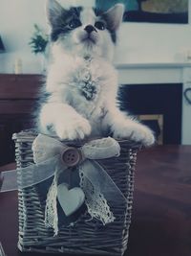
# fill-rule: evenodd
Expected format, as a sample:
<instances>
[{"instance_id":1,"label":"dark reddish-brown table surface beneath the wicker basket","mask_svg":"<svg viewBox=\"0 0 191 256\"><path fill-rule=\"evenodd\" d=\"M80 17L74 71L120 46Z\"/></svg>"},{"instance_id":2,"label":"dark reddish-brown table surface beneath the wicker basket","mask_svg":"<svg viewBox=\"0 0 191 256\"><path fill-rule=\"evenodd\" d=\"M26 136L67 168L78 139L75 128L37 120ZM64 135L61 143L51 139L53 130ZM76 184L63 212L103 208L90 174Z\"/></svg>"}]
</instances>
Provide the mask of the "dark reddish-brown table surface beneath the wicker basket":
<instances>
[{"instance_id":1,"label":"dark reddish-brown table surface beneath the wicker basket","mask_svg":"<svg viewBox=\"0 0 191 256\"><path fill-rule=\"evenodd\" d=\"M191 256L191 146L140 151L134 196L125 256ZM16 193L0 194L0 242L7 256L20 255L17 227Z\"/></svg>"}]
</instances>

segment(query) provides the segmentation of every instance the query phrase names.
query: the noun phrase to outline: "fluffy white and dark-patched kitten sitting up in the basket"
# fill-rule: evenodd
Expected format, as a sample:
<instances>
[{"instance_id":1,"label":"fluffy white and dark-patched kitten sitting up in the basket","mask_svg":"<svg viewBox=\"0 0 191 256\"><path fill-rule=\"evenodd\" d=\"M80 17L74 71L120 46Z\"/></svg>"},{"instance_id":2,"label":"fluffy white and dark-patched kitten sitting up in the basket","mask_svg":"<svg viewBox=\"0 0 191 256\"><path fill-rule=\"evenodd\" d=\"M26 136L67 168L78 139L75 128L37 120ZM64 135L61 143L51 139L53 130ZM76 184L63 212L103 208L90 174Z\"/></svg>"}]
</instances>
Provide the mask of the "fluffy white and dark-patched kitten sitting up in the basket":
<instances>
[{"instance_id":1,"label":"fluffy white and dark-patched kitten sitting up in the basket","mask_svg":"<svg viewBox=\"0 0 191 256\"><path fill-rule=\"evenodd\" d=\"M112 65L117 30L124 7L107 12L91 8L65 10L55 0L47 2L51 25L52 63L39 112L42 133L62 140L86 136L131 138L145 146L154 143L149 128L119 111L117 71Z\"/></svg>"}]
</instances>

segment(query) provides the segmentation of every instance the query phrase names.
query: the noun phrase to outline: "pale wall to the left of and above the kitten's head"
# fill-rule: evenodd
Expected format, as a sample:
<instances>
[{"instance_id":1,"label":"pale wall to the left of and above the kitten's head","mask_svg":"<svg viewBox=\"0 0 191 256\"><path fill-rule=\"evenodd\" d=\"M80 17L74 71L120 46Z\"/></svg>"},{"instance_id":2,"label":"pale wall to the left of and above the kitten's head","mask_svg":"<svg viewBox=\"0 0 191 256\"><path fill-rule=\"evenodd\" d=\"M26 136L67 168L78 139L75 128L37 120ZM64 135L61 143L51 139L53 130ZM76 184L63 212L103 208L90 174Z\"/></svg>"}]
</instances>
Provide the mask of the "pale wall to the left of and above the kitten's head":
<instances>
[{"instance_id":1,"label":"pale wall to the left of and above the kitten's head","mask_svg":"<svg viewBox=\"0 0 191 256\"><path fill-rule=\"evenodd\" d=\"M93 5L95 0L59 0L70 5ZM12 73L16 59L22 59L23 73L40 73L41 58L31 52L29 41L33 24L37 23L46 30L46 0L0 0L0 35L6 53L0 54L0 73ZM69 4L68 4L69 5Z\"/></svg>"}]
</instances>

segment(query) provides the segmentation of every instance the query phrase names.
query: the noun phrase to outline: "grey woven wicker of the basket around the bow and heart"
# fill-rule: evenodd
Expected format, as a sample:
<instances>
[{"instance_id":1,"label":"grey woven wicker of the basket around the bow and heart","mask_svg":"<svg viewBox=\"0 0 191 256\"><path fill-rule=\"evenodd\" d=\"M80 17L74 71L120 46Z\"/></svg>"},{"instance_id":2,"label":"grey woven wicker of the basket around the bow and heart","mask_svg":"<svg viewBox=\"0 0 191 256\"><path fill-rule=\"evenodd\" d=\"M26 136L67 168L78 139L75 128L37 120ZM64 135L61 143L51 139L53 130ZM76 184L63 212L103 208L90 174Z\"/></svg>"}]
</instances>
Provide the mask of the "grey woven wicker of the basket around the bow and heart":
<instances>
[{"instance_id":1,"label":"grey woven wicker of the basket around the bow and heart","mask_svg":"<svg viewBox=\"0 0 191 256\"><path fill-rule=\"evenodd\" d=\"M18 168L33 163L32 142L36 135L33 131L22 131L13 135ZM90 216L85 212L74 226L62 226L58 236L53 236L53 229L45 227L44 210L36 186L28 187L18 191L18 248L21 251L113 256L124 253L131 222L134 171L139 145L128 141L121 141L119 144L119 157L98 161L128 201L127 205L118 203L112 209L115 211L116 220L106 225L95 219L87 221ZM32 178L32 174L26 175Z\"/></svg>"}]
</instances>

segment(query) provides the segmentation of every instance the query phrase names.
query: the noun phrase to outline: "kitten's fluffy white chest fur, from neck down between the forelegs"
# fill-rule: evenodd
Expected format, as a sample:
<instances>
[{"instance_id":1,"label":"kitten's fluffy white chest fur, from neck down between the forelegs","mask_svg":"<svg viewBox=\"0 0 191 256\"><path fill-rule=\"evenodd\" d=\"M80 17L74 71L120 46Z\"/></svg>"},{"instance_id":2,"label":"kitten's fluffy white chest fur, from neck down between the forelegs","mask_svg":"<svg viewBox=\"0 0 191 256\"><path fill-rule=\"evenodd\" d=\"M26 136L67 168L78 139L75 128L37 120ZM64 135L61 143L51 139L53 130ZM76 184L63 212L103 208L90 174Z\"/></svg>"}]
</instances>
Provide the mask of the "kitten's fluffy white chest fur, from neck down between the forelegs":
<instances>
[{"instance_id":1,"label":"kitten's fluffy white chest fur, from neck down between the forelegs","mask_svg":"<svg viewBox=\"0 0 191 256\"><path fill-rule=\"evenodd\" d=\"M50 88L55 83L56 88ZM108 101L115 104L117 72L104 59L70 58L53 65L48 76L49 89L51 101L73 106L89 120L92 128L99 129Z\"/></svg>"}]
</instances>

